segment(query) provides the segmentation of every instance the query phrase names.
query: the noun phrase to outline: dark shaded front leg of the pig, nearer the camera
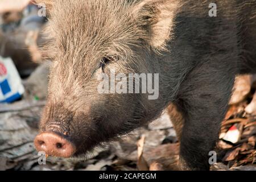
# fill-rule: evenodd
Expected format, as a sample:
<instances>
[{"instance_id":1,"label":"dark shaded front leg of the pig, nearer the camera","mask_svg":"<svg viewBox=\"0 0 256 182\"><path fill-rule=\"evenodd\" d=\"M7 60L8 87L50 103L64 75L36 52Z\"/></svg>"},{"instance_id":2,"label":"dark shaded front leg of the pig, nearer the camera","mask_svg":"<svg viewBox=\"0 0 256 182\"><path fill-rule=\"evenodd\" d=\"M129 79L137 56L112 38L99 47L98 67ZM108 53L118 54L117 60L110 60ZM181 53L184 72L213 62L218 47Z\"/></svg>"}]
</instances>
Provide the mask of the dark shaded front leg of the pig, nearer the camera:
<instances>
[{"instance_id":1,"label":"dark shaded front leg of the pig, nearer the camera","mask_svg":"<svg viewBox=\"0 0 256 182\"><path fill-rule=\"evenodd\" d=\"M218 140L233 84L232 73L209 65L195 68L184 80L177 103L184 113L179 162L182 170L209 170L209 151Z\"/></svg>"}]
</instances>

